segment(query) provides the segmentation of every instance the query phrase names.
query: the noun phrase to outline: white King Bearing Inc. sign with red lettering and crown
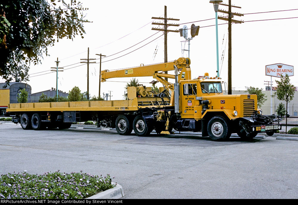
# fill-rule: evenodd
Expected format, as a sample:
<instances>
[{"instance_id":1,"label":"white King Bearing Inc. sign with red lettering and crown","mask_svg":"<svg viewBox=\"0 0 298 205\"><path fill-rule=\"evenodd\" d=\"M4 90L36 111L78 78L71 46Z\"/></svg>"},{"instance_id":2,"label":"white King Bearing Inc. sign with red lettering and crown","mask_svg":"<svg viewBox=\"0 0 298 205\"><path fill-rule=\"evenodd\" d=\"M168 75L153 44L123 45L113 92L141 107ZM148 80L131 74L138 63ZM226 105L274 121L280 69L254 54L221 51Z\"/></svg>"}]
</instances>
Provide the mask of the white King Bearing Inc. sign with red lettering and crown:
<instances>
[{"instance_id":1,"label":"white King Bearing Inc. sign with red lettering and crown","mask_svg":"<svg viewBox=\"0 0 298 205\"><path fill-rule=\"evenodd\" d=\"M273 77L281 77L281 75L285 76L294 75L294 66L286 65L282 63L266 65L265 75L273 76Z\"/></svg>"}]
</instances>

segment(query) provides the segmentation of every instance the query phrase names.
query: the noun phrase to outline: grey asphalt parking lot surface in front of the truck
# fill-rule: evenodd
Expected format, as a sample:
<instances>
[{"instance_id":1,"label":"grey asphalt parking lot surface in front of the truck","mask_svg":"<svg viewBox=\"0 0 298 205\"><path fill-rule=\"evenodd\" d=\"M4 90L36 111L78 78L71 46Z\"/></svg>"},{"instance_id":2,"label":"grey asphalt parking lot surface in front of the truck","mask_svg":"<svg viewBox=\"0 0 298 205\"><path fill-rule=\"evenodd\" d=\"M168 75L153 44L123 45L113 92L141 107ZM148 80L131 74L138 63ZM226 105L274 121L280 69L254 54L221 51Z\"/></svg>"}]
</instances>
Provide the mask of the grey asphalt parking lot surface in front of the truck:
<instances>
[{"instance_id":1,"label":"grey asphalt parking lot surface in front of the truck","mask_svg":"<svg viewBox=\"0 0 298 205\"><path fill-rule=\"evenodd\" d=\"M23 130L0 124L0 174L111 174L123 198L298 198L298 141Z\"/></svg>"}]
</instances>

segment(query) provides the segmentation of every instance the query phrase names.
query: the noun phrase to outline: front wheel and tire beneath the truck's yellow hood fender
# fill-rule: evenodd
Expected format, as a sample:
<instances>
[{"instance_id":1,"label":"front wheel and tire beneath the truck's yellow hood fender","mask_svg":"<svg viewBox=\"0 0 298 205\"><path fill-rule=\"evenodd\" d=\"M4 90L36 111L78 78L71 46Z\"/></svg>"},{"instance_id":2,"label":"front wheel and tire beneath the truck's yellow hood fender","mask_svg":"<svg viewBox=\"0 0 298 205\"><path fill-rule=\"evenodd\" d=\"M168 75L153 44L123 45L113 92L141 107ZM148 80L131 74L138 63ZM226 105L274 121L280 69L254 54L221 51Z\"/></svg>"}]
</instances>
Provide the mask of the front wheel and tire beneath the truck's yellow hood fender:
<instances>
[{"instance_id":1,"label":"front wheel and tire beneath the truck's yellow hood fender","mask_svg":"<svg viewBox=\"0 0 298 205\"><path fill-rule=\"evenodd\" d=\"M231 127L221 116L214 116L207 124L209 137L213 141L227 140L231 136Z\"/></svg>"}]
</instances>

